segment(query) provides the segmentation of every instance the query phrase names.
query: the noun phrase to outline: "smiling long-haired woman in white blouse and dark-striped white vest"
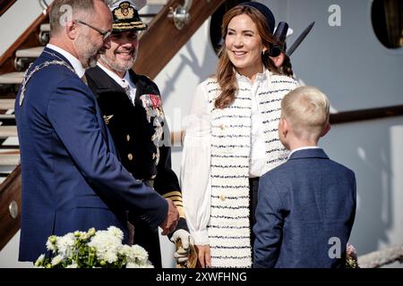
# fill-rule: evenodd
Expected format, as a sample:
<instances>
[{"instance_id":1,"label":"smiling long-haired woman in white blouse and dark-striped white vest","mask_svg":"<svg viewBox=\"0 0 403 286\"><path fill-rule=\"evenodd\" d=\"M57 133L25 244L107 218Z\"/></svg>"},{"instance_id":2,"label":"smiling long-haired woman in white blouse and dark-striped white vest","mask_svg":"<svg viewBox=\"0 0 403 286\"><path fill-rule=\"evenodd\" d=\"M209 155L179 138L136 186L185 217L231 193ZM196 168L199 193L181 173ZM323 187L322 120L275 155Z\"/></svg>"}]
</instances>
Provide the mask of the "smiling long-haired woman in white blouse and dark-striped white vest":
<instances>
[{"instance_id":1,"label":"smiling long-haired woman in white blouse and dark-striped white vest","mask_svg":"<svg viewBox=\"0 0 403 286\"><path fill-rule=\"evenodd\" d=\"M274 17L246 2L223 18L214 77L195 91L184 138L184 211L202 267L251 267L259 177L287 160L280 101L297 87L270 60Z\"/></svg>"}]
</instances>

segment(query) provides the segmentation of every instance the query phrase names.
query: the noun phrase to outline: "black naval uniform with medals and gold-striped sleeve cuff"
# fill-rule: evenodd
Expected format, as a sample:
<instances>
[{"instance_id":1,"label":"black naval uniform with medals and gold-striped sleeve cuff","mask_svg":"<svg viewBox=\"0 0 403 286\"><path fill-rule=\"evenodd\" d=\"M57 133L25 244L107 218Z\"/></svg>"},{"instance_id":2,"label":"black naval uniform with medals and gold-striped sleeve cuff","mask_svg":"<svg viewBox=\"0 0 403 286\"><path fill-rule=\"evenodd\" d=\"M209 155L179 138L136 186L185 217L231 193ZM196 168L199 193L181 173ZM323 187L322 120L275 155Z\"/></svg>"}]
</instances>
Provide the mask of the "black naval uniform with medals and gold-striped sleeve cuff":
<instances>
[{"instance_id":1,"label":"black naval uniform with medals and gold-striped sleeve cuff","mask_svg":"<svg viewBox=\"0 0 403 286\"><path fill-rule=\"evenodd\" d=\"M86 71L89 87L97 100L121 157L122 164L136 179L153 180L154 189L173 200L181 219L178 228L187 231L182 194L176 173L171 169L170 136L157 85L149 78L129 71L136 86L134 105L120 85L99 66ZM134 224L134 243L146 248L150 261L160 267L159 236L130 215Z\"/></svg>"}]
</instances>

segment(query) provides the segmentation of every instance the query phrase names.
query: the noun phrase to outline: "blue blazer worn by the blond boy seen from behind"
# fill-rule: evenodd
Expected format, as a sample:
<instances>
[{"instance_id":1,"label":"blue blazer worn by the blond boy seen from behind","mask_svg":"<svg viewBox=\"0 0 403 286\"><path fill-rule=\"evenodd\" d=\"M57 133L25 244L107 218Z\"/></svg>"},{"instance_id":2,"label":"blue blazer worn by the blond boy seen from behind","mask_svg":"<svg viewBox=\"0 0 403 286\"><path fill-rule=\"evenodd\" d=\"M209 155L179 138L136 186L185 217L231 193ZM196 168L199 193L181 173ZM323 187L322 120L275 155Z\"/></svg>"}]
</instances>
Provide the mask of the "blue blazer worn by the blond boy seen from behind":
<instances>
[{"instance_id":1,"label":"blue blazer worn by the blond boy seen from behind","mask_svg":"<svg viewBox=\"0 0 403 286\"><path fill-rule=\"evenodd\" d=\"M254 267L343 267L356 176L321 148L293 153L259 181Z\"/></svg>"}]
</instances>

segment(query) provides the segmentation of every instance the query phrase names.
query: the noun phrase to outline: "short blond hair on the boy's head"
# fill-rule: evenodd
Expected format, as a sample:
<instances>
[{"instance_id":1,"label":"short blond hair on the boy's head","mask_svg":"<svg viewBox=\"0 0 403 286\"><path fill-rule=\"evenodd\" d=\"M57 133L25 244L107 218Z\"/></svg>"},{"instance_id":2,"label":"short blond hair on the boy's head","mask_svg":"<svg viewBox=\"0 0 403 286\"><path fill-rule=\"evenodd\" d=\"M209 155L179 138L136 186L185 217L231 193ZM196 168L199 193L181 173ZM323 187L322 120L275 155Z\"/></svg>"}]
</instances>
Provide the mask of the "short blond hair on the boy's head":
<instances>
[{"instance_id":1,"label":"short blond hair on the boy's head","mask_svg":"<svg viewBox=\"0 0 403 286\"><path fill-rule=\"evenodd\" d=\"M299 139L319 139L329 123L329 114L329 99L318 88L296 88L281 101L281 118L287 120Z\"/></svg>"}]
</instances>

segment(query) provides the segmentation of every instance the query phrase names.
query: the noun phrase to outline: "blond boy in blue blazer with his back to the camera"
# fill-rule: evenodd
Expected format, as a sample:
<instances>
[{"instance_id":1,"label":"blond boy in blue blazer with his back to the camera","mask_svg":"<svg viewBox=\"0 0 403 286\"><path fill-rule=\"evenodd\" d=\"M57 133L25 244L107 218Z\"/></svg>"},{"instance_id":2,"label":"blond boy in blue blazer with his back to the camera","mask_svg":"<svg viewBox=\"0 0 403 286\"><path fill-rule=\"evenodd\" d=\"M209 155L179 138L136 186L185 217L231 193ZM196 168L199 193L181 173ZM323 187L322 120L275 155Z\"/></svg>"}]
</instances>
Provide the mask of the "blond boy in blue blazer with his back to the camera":
<instances>
[{"instance_id":1,"label":"blond boy in blue blazer with his back to the camera","mask_svg":"<svg viewBox=\"0 0 403 286\"><path fill-rule=\"evenodd\" d=\"M282 99L279 139L291 153L259 182L254 267L346 265L356 177L317 147L330 130L329 109L317 88L296 88Z\"/></svg>"}]
</instances>

